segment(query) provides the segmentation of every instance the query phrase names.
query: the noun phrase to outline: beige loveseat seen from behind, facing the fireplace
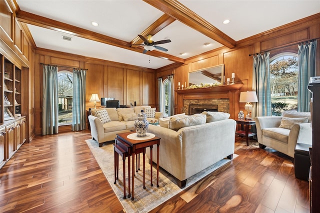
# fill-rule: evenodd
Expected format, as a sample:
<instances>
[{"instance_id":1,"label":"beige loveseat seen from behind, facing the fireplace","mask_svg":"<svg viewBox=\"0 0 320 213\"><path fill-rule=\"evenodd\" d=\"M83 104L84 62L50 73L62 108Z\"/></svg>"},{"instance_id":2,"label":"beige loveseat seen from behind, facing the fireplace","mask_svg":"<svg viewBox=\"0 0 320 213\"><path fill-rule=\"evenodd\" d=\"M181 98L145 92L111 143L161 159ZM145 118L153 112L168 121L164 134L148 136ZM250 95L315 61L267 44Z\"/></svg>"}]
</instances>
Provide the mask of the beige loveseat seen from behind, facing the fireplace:
<instances>
[{"instance_id":1,"label":"beige loveseat seen from behind, facing the fireplace","mask_svg":"<svg viewBox=\"0 0 320 213\"><path fill-rule=\"evenodd\" d=\"M208 113L219 117L224 112ZM159 166L177 179L180 188L185 186L187 178L192 175L224 157L232 158L236 122L228 117L229 114L221 120L219 118L214 121L210 120L207 114L176 115L160 118L160 125L149 125L147 132L161 138ZM161 124L162 119L164 124ZM202 124L197 124L196 119ZM156 156L156 148L152 149L152 154ZM148 148L146 156L150 158ZM156 157L152 160L156 162Z\"/></svg>"}]
</instances>

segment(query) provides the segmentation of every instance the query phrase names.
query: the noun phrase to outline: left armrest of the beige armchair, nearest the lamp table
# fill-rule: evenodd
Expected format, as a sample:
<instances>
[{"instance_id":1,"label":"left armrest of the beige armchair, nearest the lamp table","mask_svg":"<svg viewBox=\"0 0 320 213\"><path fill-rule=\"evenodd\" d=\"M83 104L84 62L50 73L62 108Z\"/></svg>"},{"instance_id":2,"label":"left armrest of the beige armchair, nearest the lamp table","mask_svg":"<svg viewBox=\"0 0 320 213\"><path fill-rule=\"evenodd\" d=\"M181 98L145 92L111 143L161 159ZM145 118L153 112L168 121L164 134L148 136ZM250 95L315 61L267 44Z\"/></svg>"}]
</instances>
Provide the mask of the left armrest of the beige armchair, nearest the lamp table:
<instances>
[{"instance_id":1,"label":"left armrest of the beige armchair, nearest the lamp table","mask_svg":"<svg viewBox=\"0 0 320 213\"><path fill-rule=\"evenodd\" d=\"M262 129L270 127L279 127L282 116L257 116L255 117L256 136L258 142L263 144Z\"/></svg>"}]
</instances>

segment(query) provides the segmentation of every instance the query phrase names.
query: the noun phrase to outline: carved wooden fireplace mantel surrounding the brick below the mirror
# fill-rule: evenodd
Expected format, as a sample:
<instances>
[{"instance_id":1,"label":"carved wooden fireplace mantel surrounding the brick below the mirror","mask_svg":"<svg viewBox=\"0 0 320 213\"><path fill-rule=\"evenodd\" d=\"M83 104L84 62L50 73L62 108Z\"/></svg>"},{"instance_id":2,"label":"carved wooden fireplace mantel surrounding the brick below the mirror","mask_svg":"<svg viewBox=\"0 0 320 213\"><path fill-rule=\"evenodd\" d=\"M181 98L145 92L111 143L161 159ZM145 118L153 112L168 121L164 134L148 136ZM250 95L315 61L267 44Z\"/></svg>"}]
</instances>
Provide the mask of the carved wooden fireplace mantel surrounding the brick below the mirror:
<instances>
[{"instance_id":1,"label":"carved wooden fireplace mantel surrounding the brick below the mirror","mask_svg":"<svg viewBox=\"0 0 320 213\"><path fill-rule=\"evenodd\" d=\"M228 98L230 118L234 119L239 110L239 94L242 86L242 83L235 83L206 88L175 90L177 95L177 107L175 108L175 113L182 113L181 109L183 108L183 100L186 99Z\"/></svg>"}]
</instances>

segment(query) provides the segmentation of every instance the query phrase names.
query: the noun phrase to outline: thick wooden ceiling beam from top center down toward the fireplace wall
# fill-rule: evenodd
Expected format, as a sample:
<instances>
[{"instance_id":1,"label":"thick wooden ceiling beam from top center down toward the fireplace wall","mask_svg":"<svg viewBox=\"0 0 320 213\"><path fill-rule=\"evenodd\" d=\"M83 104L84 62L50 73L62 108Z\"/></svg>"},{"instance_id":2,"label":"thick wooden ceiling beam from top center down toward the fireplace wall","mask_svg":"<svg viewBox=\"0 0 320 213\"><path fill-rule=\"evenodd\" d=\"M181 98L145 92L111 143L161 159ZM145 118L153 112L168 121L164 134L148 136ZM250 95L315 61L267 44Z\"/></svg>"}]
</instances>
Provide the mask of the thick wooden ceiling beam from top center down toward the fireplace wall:
<instances>
[{"instance_id":1,"label":"thick wooden ceiling beam from top center down toward the fireplace wall","mask_svg":"<svg viewBox=\"0 0 320 213\"><path fill-rule=\"evenodd\" d=\"M143 1L229 48L235 46L235 40L177 0Z\"/></svg>"}]
</instances>

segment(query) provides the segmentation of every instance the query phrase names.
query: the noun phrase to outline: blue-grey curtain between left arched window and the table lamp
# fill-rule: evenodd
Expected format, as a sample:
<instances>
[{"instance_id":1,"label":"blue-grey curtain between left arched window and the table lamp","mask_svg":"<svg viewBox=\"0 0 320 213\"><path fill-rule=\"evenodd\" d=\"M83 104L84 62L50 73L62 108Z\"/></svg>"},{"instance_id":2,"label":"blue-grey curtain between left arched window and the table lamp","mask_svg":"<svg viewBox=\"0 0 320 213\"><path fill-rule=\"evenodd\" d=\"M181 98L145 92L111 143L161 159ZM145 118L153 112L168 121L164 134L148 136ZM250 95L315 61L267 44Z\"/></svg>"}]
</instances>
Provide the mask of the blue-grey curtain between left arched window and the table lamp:
<instances>
[{"instance_id":1,"label":"blue-grey curtain between left arched window and the table lamp","mask_svg":"<svg viewBox=\"0 0 320 213\"><path fill-rule=\"evenodd\" d=\"M85 129L85 74L83 69L73 69L72 131Z\"/></svg>"}]
</instances>

